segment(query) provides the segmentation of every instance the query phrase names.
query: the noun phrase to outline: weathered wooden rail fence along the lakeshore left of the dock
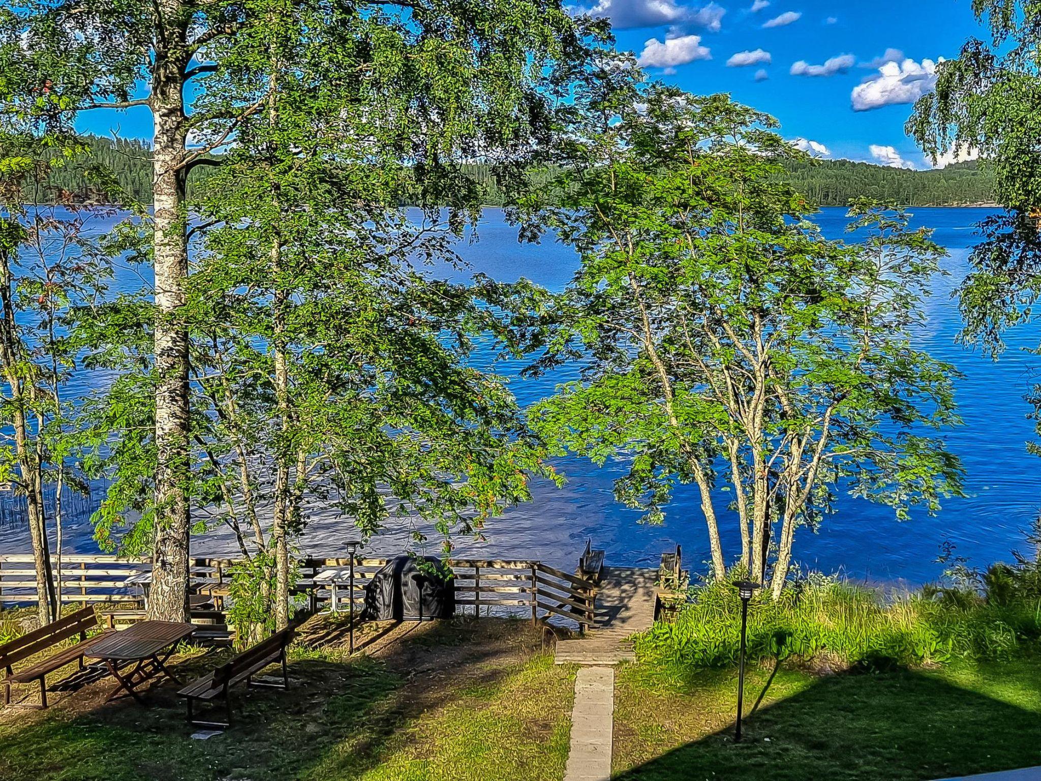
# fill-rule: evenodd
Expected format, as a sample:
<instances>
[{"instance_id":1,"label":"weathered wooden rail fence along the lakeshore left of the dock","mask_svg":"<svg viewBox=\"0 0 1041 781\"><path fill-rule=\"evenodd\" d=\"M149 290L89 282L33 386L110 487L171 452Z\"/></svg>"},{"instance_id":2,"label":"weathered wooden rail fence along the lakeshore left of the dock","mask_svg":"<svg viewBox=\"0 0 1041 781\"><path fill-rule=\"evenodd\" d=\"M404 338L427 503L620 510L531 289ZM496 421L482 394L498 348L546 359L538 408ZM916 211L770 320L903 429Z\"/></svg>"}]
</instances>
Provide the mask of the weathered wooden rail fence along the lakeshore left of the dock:
<instances>
[{"instance_id":1,"label":"weathered wooden rail fence along the lakeshore left of the dock","mask_svg":"<svg viewBox=\"0 0 1041 781\"><path fill-rule=\"evenodd\" d=\"M364 601L364 588L373 575L387 563L385 558L354 560L354 590L350 593L347 571L349 558L305 558L300 562L297 591L307 596L314 610L325 609L335 601L346 609L348 601L356 606ZM556 616L574 621L580 628L592 624L596 586L587 578L530 560L451 559L446 562L455 575L457 611L520 612L532 621ZM195 558L192 560L193 585L197 590L224 594L234 559ZM145 560L117 556L66 556L61 565L64 602L144 603L146 576L151 564ZM338 571L330 573L330 571ZM323 573L327 575L323 577ZM330 577L331 576L331 577ZM129 582L128 582L129 581ZM0 555L0 607L4 604L33 602L36 577L32 556Z\"/></svg>"}]
</instances>

